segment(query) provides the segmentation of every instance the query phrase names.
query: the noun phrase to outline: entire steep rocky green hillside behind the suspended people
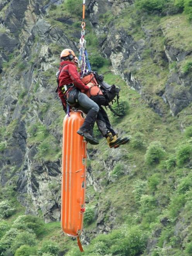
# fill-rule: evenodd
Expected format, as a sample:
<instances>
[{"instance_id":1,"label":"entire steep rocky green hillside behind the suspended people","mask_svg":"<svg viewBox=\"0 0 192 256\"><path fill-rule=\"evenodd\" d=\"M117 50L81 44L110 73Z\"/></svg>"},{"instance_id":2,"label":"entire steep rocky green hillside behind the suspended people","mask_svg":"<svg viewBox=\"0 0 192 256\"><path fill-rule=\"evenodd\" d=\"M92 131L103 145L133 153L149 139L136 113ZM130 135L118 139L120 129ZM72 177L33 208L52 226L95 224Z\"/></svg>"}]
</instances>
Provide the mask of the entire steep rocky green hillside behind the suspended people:
<instances>
[{"instance_id":1,"label":"entire steep rocky green hillside behind the suspended people","mask_svg":"<svg viewBox=\"0 0 192 256\"><path fill-rule=\"evenodd\" d=\"M81 13L81 0L0 0L1 255L81 254L59 223L55 93ZM110 149L94 128L81 255L192 255L191 20L190 0L86 1L90 61L121 86L124 117L108 114L131 141Z\"/></svg>"}]
</instances>

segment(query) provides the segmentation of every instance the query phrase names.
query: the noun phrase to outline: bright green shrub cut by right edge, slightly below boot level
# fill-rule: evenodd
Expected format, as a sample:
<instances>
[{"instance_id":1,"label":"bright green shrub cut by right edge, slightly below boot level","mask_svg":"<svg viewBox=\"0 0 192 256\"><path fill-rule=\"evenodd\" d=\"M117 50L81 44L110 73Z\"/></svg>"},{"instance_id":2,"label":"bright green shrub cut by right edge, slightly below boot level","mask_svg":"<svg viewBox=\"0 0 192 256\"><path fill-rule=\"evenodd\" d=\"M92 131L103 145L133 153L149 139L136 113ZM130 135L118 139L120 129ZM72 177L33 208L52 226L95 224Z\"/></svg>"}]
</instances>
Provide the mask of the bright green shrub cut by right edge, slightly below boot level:
<instances>
[{"instance_id":1,"label":"bright green shrub cut by right edge, slightly below boot level","mask_svg":"<svg viewBox=\"0 0 192 256\"><path fill-rule=\"evenodd\" d=\"M184 163L189 162L192 153L192 145L184 144L177 150L177 164L182 166Z\"/></svg>"}]
</instances>

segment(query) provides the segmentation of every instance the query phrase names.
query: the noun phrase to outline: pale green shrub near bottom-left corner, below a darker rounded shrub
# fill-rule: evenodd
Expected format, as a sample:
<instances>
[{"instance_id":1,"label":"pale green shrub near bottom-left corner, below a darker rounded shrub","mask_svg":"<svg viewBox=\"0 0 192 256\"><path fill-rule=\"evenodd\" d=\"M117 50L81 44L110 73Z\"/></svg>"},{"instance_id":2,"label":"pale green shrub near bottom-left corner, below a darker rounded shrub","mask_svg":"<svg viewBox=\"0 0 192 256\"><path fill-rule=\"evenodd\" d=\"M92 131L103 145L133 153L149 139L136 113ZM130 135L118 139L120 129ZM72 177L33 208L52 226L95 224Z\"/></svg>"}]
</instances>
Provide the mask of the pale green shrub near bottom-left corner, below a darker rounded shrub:
<instances>
[{"instance_id":1,"label":"pale green shrub near bottom-left corner, below a darker rounded shrub","mask_svg":"<svg viewBox=\"0 0 192 256\"><path fill-rule=\"evenodd\" d=\"M17 234L11 244L11 251L15 254L15 251L22 245L34 246L37 244L36 235L29 233L28 231L22 231Z\"/></svg>"}]
</instances>

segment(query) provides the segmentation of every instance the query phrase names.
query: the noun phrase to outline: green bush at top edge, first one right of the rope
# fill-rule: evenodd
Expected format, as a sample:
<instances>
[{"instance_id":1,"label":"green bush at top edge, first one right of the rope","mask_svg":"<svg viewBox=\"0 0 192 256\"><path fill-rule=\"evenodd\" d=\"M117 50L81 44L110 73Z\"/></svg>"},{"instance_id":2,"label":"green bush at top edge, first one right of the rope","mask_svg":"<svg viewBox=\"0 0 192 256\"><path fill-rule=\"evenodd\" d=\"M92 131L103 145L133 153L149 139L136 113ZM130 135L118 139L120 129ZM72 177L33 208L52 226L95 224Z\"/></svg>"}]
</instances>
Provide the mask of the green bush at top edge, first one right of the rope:
<instances>
[{"instance_id":1,"label":"green bush at top edge, first one right of the rope","mask_svg":"<svg viewBox=\"0 0 192 256\"><path fill-rule=\"evenodd\" d=\"M166 0L136 0L135 6L146 12L162 11Z\"/></svg>"}]
</instances>

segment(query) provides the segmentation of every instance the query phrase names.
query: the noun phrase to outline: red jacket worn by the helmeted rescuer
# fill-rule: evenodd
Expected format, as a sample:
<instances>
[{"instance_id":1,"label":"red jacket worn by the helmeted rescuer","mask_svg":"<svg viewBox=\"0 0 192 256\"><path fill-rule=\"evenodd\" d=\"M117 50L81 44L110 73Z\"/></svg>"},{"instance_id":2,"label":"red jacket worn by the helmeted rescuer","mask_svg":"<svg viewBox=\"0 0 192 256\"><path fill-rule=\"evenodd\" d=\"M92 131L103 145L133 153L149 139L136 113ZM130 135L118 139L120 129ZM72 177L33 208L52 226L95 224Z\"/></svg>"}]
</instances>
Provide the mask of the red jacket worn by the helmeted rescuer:
<instances>
[{"instance_id":1,"label":"red jacket worn by the helmeted rescuer","mask_svg":"<svg viewBox=\"0 0 192 256\"><path fill-rule=\"evenodd\" d=\"M62 67L62 65L65 65L65 66ZM89 90L89 87L81 82L80 75L77 72L74 62L70 62L67 60L62 61L60 63L59 70L61 70L61 72L59 74L59 79L58 79L59 87L65 85L65 84L73 83L80 90L85 90L85 91ZM70 90L72 90L72 88L69 88L68 91L70 91ZM62 100L63 105L66 107L66 100L65 100L64 94L62 93L62 91L60 89L58 90L58 96Z\"/></svg>"}]
</instances>

